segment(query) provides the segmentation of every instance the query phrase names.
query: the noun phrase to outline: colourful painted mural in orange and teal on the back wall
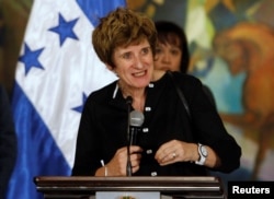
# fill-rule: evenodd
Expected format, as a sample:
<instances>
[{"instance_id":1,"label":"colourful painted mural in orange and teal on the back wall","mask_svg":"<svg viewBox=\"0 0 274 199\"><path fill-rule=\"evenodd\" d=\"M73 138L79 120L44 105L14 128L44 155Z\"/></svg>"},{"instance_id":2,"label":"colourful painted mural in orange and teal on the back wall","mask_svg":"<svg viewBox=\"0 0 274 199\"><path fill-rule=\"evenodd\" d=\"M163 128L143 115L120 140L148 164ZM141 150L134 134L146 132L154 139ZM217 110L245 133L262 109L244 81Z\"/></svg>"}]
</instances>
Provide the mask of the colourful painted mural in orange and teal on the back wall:
<instances>
[{"instance_id":1,"label":"colourful painted mural in orange and teal on the back wall","mask_svg":"<svg viewBox=\"0 0 274 199\"><path fill-rule=\"evenodd\" d=\"M192 54L190 73L210 87L243 152L238 171L216 175L227 180L273 180L274 1L128 2L155 21L170 20L184 28Z\"/></svg>"}]
</instances>

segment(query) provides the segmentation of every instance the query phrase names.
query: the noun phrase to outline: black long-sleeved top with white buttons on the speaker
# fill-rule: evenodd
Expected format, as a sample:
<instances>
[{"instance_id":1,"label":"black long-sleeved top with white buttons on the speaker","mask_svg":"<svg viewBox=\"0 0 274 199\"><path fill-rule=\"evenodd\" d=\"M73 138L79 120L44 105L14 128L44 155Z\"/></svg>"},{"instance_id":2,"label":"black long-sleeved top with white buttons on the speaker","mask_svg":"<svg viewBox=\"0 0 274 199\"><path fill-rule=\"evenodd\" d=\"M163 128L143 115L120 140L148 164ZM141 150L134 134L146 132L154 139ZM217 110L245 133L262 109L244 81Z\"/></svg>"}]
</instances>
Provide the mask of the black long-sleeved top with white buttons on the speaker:
<instances>
[{"instance_id":1,"label":"black long-sleeved top with white buttons on the speaker","mask_svg":"<svg viewBox=\"0 0 274 199\"><path fill-rule=\"evenodd\" d=\"M173 72L173 77L185 94L193 125L190 125L171 78L165 73L159 81L151 82L147 86L145 121L137 141L144 153L140 169L134 175L206 175L205 166L194 163L160 166L155 161L158 148L173 139L209 145L222 162L217 168L220 172L238 168L241 149L228 134L216 108L202 92L201 81L180 72ZM110 162L116 150L127 144L127 113L126 99L116 81L88 97L78 132L72 175L94 175L101 167L101 160Z\"/></svg>"}]
</instances>

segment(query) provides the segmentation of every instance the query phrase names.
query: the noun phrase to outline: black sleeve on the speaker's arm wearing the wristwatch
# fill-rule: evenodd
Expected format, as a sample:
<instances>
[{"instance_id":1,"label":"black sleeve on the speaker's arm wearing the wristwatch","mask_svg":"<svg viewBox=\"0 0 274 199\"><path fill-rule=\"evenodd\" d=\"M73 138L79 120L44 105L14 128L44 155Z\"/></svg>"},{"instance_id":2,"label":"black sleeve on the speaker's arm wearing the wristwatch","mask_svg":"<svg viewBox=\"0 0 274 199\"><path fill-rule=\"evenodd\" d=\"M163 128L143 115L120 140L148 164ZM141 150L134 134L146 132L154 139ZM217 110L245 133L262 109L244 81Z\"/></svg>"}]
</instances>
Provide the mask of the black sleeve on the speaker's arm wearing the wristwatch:
<instances>
[{"instance_id":1,"label":"black sleeve on the speaker's arm wearing the wristwatch","mask_svg":"<svg viewBox=\"0 0 274 199\"><path fill-rule=\"evenodd\" d=\"M214 169L230 173L239 168L241 148L226 130L215 105L203 91L202 82L194 77L184 79L186 81L181 82L181 89L185 93L192 113L192 129L195 140L209 145L219 156L221 165Z\"/></svg>"}]
</instances>

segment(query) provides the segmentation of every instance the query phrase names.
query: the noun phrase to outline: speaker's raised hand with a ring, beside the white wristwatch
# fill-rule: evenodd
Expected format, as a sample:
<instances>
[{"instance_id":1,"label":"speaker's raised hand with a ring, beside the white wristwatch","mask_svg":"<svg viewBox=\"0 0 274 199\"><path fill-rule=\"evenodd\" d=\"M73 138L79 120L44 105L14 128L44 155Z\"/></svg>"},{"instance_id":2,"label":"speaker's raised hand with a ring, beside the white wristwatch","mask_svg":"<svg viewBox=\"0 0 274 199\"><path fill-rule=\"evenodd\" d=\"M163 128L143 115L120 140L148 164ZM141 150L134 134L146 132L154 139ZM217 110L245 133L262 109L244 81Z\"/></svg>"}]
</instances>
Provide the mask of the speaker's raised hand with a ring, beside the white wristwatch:
<instances>
[{"instance_id":1,"label":"speaker's raised hand with a ring, beside the white wristwatch","mask_svg":"<svg viewBox=\"0 0 274 199\"><path fill-rule=\"evenodd\" d=\"M175 162L193 161L196 153L197 145L195 143L171 140L158 149L155 159L163 166Z\"/></svg>"}]
</instances>

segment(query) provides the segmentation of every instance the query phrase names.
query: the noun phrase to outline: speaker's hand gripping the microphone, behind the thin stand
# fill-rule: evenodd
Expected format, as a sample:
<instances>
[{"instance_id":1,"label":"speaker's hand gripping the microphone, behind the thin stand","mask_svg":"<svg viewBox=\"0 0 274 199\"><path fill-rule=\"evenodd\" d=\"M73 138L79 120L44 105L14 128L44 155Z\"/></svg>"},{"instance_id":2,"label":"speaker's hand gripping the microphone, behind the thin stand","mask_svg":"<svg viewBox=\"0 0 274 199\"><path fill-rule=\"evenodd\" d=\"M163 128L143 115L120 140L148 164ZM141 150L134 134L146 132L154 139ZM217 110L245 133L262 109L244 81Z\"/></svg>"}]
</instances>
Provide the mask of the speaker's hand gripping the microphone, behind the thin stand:
<instances>
[{"instance_id":1,"label":"speaker's hand gripping the microphone, behind the thin stand","mask_svg":"<svg viewBox=\"0 0 274 199\"><path fill-rule=\"evenodd\" d=\"M130 145L130 162L133 174L139 169L142 149L138 145ZM127 165L127 148L121 148L116 151L115 155L107 163L107 172L110 176L126 176Z\"/></svg>"}]
</instances>

